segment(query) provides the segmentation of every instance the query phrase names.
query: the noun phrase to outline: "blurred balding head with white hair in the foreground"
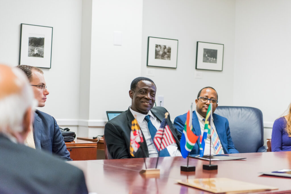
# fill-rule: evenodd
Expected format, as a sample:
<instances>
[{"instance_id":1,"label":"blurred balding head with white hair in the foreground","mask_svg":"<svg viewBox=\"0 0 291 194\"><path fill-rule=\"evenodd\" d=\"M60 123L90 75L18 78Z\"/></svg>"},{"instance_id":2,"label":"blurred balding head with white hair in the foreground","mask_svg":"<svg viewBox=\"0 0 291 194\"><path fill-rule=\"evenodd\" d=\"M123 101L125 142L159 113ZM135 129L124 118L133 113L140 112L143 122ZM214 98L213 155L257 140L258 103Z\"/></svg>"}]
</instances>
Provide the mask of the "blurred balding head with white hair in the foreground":
<instances>
[{"instance_id":1,"label":"blurred balding head with white hair in the foreground","mask_svg":"<svg viewBox=\"0 0 291 194\"><path fill-rule=\"evenodd\" d=\"M23 143L32 122L33 92L18 68L0 64L0 133Z\"/></svg>"}]
</instances>

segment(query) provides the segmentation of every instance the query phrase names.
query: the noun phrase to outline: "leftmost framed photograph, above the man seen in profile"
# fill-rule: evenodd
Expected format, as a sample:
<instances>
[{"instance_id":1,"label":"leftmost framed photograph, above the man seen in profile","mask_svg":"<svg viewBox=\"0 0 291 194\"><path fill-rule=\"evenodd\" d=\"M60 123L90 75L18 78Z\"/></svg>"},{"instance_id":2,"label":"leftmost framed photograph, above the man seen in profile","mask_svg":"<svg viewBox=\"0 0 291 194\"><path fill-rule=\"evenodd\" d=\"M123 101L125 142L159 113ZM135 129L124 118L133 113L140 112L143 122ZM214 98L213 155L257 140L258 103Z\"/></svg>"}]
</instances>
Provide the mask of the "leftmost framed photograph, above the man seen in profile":
<instances>
[{"instance_id":1,"label":"leftmost framed photograph, above the man seen in profile","mask_svg":"<svg viewBox=\"0 0 291 194\"><path fill-rule=\"evenodd\" d=\"M51 68L53 27L20 24L19 65Z\"/></svg>"}]
</instances>

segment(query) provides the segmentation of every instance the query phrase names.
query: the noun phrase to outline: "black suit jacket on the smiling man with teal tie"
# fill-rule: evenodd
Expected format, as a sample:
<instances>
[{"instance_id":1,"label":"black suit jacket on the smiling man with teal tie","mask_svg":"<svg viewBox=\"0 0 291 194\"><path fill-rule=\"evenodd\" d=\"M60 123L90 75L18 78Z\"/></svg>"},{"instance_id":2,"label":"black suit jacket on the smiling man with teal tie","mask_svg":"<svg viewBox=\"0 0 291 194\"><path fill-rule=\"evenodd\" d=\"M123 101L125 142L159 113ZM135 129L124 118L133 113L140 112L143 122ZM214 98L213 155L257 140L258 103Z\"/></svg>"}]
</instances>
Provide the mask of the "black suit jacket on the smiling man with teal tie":
<instances>
[{"instance_id":1,"label":"black suit jacket on the smiling man with teal tie","mask_svg":"<svg viewBox=\"0 0 291 194\"><path fill-rule=\"evenodd\" d=\"M165 113L168 112L164 107L161 106L155 106L150 111L160 122L162 122L164 119ZM130 155L129 146L132 120L134 120L134 117L128 108L127 111L124 111L120 115L111 119L105 125L104 137L106 140L107 149L113 159L149 157L148 146L144 136L143 143L141 143L142 149L138 149L138 151L135 153L135 157ZM177 143L178 149L180 150L181 134L179 134L177 129L175 129L173 126L173 123L170 120L170 115L168 116L167 120L173 137Z\"/></svg>"}]
</instances>

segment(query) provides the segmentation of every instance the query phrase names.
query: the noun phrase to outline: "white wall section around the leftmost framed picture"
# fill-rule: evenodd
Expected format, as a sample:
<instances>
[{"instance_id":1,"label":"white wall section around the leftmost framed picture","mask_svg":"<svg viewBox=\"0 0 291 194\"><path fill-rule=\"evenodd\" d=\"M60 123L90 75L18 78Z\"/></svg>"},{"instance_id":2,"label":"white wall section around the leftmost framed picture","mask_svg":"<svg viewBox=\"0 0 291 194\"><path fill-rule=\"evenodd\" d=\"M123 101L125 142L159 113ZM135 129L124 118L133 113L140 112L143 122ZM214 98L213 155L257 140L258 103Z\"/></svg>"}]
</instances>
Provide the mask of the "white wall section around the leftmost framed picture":
<instances>
[{"instance_id":1,"label":"white wall section around the leftmost framed picture","mask_svg":"<svg viewBox=\"0 0 291 194\"><path fill-rule=\"evenodd\" d=\"M0 1L0 63L18 65L20 24L53 27L51 69L42 69L48 90L40 108L56 119L79 117L81 0Z\"/></svg>"}]
</instances>

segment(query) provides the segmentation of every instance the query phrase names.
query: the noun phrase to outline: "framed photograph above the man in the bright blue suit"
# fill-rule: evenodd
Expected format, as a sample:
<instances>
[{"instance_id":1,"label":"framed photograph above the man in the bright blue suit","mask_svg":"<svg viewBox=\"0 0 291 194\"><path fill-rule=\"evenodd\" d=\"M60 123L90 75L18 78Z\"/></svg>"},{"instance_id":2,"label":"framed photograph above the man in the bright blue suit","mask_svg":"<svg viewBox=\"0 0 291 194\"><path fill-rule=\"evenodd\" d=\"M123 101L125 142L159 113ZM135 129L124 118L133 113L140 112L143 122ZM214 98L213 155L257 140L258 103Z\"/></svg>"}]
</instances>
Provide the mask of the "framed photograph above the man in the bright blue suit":
<instances>
[{"instance_id":1,"label":"framed photograph above the man in the bright blue suit","mask_svg":"<svg viewBox=\"0 0 291 194\"><path fill-rule=\"evenodd\" d=\"M197 42L196 69L222 71L223 44Z\"/></svg>"}]
</instances>

